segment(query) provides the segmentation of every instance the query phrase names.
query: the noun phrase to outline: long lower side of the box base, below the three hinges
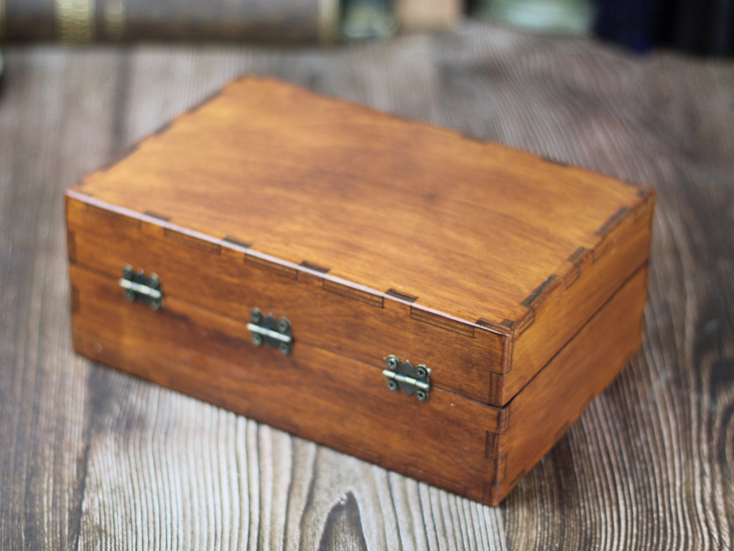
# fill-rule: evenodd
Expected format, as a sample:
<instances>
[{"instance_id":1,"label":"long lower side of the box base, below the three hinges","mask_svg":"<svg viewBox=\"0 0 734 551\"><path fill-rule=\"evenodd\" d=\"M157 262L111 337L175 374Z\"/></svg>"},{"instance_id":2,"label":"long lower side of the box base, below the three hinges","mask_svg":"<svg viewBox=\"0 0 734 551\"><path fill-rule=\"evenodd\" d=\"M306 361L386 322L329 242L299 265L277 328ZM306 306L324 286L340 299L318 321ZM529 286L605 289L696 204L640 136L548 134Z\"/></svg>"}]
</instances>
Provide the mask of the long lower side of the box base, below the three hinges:
<instances>
[{"instance_id":1,"label":"long lower side of the box base, below the three hinges","mask_svg":"<svg viewBox=\"0 0 734 551\"><path fill-rule=\"evenodd\" d=\"M255 347L246 323L166 298L128 303L117 279L70 267L73 336L85 356L474 500L496 479L485 453L502 411L431 389L390 392L381 370L306 342Z\"/></svg>"}]
</instances>

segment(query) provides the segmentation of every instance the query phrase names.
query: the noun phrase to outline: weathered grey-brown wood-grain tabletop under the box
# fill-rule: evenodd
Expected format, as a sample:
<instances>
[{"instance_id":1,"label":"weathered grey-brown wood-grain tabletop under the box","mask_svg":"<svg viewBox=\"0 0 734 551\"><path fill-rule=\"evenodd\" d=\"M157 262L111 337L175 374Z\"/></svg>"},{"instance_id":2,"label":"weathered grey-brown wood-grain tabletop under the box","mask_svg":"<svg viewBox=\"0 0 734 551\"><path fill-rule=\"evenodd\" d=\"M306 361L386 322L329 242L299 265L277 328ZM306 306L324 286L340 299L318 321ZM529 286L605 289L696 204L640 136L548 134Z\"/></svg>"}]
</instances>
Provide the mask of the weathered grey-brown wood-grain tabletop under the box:
<instances>
[{"instance_id":1,"label":"weathered grey-brown wood-grain tabletop under the box","mask_svg":"<svg viewBox=\"0 0 734 551\"><path fill-rule=\"evenodd\" d=\"M734 67L467 24L335 50L5 50L3 549L726 549ZM498 508L75 356L62 190L239 73L658 191L643 352Z\"/></svg>"}]
</instances>

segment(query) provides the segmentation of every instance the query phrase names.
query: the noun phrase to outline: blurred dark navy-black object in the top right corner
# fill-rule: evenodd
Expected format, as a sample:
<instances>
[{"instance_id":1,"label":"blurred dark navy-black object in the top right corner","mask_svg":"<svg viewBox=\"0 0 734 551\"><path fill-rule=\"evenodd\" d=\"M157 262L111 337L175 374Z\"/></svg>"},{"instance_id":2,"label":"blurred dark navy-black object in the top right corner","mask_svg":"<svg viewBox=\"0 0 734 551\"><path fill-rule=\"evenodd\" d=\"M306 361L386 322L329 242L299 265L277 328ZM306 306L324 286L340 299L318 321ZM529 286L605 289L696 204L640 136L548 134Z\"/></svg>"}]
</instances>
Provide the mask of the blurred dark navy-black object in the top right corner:
<instances>
[{"instance_id":1,"label":"blurred dark navy-black object in the top right corner","mask_svg":"<svg viewBox=\"0 0 734 551\"><path fill-rule=\"evenodd\" d=\"M734 54L732 0L599 0L595 32L635 51Z\"/></svg>"}]
</instances>

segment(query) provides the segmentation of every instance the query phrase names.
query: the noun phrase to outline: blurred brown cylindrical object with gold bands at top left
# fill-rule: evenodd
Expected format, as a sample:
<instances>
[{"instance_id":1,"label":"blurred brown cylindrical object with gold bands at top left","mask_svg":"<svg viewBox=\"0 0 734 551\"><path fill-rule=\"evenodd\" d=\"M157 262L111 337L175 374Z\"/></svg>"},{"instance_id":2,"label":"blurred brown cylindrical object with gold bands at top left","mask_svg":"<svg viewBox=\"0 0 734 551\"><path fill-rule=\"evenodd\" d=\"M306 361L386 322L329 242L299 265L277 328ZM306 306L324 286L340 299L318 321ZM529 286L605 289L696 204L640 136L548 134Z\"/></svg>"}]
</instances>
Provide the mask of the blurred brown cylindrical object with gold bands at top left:
<instances>
[{"instance_id":1,"label":"blurred brown cylindrical object with gold bands at top left","mask_svg":"<svg viewBox=\"0 0 734 551\"><path fill-rule=\"evenodd\" d=\"M293 43L328 42L338 34L339 0L0 0L0 4L4 4L0 36L8 41Z\"/></svg>"}]
</instances>

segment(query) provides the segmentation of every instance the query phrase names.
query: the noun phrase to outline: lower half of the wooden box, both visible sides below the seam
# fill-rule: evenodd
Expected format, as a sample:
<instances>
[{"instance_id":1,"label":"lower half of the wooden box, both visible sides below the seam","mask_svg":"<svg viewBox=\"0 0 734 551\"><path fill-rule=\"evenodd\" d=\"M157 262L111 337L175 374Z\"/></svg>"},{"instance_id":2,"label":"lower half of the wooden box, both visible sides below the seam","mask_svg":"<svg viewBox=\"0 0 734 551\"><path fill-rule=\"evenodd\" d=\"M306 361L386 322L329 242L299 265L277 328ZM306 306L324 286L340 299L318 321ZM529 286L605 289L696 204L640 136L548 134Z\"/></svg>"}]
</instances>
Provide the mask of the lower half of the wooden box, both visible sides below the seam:
<instances>
[{"instance_id":1,"label":"lower half of the wooden box, both visible sides below the seam","mask_svg":"<svg viewBox=\"0 0 734 551\"><path fill-rule=\"evenodd\" d=\"M167 297L128 303L73 264L73 339L95 361L455 494L496 505L641 344L647 266L504 408L432 388L389 392L382 366L299 342L255 347L244 320ZM385 350L385 356L391 350Z\"/></svg>"}]
</instances>

